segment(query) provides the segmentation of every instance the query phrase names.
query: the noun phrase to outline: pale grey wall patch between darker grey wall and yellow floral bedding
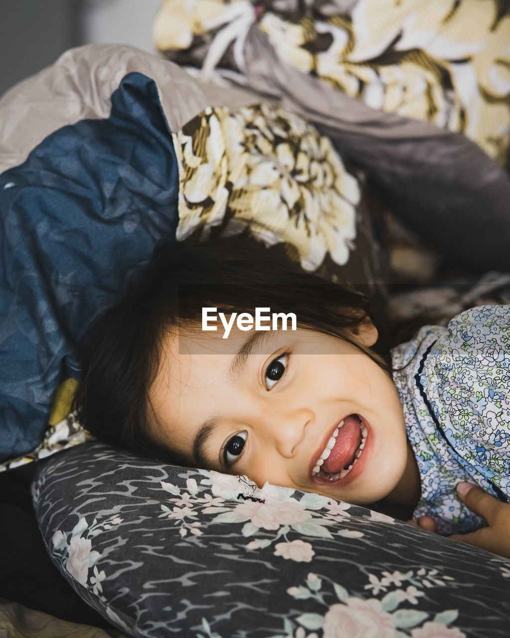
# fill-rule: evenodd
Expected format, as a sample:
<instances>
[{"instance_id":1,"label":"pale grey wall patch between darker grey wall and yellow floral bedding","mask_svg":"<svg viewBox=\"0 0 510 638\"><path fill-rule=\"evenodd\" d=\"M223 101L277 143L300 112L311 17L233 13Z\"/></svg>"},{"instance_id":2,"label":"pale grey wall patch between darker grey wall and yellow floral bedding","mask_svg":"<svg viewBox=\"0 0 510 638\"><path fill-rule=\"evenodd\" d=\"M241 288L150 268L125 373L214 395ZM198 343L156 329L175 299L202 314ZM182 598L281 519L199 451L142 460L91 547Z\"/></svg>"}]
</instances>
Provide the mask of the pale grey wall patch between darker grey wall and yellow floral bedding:
<instances>
[{"instance_id":1,"label":"pale grey wall patch between darker grey wall and yellow floral bedding","mask_svg":"<svg viewBox=\"0 0 510 638\"><path fill-rule=\"evenodd\" d=\"M152 24L161 0L83 0L82 41L130 44L154 53Z\"/></svg>"}]
</instances>

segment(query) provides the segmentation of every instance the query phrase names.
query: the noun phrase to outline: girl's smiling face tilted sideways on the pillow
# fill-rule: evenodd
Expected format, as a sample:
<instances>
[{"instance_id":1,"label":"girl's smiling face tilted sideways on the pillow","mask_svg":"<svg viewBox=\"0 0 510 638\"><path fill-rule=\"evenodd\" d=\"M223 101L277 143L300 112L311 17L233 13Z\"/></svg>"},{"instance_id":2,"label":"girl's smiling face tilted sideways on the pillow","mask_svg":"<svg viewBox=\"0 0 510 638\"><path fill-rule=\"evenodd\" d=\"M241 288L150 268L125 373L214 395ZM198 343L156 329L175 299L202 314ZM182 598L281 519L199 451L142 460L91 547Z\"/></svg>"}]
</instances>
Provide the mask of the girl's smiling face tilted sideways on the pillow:
<instances>
[{"instance_id":1,"label":"girl's smiling face tilted sideways on the pillow","mask_svg":"<svg viewBox=\"0 0 510 638\"><path fill-rule=\"evenodd\" d=\"M218 336L216 336L218 335ZM404 477L404 413L390 376L311 330L169 335L150 389L152 434L187 463L348 503ZM356 343L374 345L361 325ZM342 424L343 422L343 424Z\"/></svg>"}]
</instances>

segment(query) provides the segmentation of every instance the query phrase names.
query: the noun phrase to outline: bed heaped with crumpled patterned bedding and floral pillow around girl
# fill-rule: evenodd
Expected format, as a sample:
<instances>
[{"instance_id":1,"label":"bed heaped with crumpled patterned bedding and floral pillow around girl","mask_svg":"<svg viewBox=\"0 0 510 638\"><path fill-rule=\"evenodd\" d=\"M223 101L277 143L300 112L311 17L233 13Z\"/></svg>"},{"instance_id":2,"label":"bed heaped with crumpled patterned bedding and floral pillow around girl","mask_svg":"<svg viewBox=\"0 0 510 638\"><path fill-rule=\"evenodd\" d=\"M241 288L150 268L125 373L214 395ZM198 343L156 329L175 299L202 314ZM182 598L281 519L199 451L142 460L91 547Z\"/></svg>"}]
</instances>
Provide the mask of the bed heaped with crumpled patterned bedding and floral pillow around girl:
<instances>
[{"instance_id":1,"label":"bed heaped with crumpled patterned bedding and floral pillow around girl","mask_svg":"<svg viewBox=\"0 0 510 638\"><path fill-rule=\"evenodd\" d=\"M164 57L70 50L0 101L0 463L34 468L48 554L105 630L506 635L509 561L374 510L138 458L68 414L94 317L193 232L289 242L396 320L508 302L510 19L485 4L388 7L375 24L364 1L172 0L154 31ZM490 41L484 56L473 40Z\"/></svg>"}]
</instances>

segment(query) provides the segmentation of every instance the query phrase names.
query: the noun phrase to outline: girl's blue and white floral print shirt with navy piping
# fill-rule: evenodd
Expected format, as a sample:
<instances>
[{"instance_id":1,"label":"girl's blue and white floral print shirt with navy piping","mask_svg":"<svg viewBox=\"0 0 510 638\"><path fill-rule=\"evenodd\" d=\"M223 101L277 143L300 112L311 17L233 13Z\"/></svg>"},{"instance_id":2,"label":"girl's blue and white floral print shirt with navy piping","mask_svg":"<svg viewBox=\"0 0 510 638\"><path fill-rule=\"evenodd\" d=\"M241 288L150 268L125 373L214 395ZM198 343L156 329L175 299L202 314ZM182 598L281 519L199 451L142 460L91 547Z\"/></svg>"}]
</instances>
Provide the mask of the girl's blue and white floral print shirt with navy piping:
<instances>
[{"instance_id":1,"label":"girl's blue and white floral print shirt with navy piping","mask_svg":"<svg viewBox=\"0 0 510 638\"><path fill-rule=\"evenodd\" d=\"M393 380L421 475L414 517L444 535L484 525L456 497L469 481L510 496L510 306L477 306L392 351Z\"/></svg>"}]
</instances>

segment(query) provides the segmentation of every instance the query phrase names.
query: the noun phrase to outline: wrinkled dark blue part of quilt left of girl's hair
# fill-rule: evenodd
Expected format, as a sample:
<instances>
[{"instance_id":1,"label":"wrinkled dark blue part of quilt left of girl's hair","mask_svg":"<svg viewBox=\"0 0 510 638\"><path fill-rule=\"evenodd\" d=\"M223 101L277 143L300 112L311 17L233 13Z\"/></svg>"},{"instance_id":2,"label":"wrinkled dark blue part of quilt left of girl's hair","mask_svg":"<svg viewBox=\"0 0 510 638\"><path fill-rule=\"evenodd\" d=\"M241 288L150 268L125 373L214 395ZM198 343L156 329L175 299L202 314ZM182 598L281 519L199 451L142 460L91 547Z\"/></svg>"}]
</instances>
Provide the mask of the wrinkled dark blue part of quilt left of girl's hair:
<instances>
[{"instance_id":1,"label":"wrinkled dark blue part of quilt left of girl's hair","mask_svg":"<svg viewBox=\"0 0 510 638\"><path fill-rule=\"evenodd\" d=\"M128 73L111 99L107 119L55 130L0 175L0 461L38 445L91 320L175 239L177 160L156 84Z\"/></svg>"}]
</instances>

